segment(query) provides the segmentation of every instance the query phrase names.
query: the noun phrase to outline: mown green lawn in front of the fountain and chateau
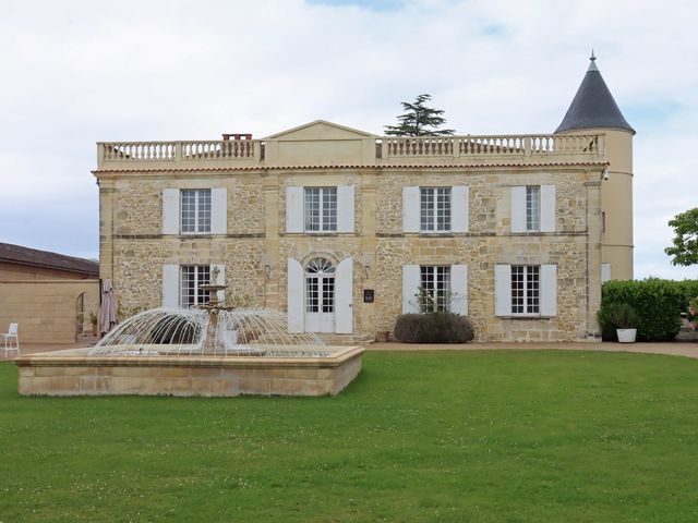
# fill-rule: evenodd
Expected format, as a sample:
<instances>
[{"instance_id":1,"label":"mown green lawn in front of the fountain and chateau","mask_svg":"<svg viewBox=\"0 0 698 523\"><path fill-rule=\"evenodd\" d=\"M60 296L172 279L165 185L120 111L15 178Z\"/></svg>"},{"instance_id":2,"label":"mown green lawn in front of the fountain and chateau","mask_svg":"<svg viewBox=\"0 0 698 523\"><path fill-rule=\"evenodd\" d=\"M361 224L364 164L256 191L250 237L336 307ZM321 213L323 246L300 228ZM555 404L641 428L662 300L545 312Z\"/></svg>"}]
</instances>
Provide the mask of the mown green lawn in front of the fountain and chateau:
<instances>
[{"instance_id":1,"label":"mown green lawn in front of the fountain and chateau","mask_svg":"<svg viewBox=\"0 0 698 523\"><path fill-rule=\"evenodd\" d=\"M698 521L698 361L368 353L336 398L20 398L0 522Z\"/></svg>"}]
</instances>

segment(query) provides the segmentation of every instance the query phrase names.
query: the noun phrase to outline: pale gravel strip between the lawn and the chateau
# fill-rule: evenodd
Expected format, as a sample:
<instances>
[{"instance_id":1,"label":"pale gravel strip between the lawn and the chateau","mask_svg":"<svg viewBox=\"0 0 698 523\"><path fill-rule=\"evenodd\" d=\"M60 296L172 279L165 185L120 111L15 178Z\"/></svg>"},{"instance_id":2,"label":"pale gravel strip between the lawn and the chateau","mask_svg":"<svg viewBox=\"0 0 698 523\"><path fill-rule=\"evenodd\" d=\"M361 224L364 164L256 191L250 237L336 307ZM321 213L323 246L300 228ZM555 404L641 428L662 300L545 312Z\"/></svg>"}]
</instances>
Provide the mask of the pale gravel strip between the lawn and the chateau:
<instances>
[{"instance_id":1,"label":"pale gravel strip between the lawn and the chateau","mask_svg":"<svg viewBox=\"0 0 698 523\"><path fill-rule=\"evenodd\" d=\"M21 345L22 354L38 354L43 352L61 351L64 349L80 349L89 346L85 343L75 344L25 344ZM664 354L669 356L685 356L698 358L698 343L695 341L674 341L669 343L464 343L464 344L417 344L417 343L369 343L364 345L369 351L605 351L605 352L637 352L642 354ZM4 356L0 346L0 361L11 360Z\"/></svg>"}]
</instances>

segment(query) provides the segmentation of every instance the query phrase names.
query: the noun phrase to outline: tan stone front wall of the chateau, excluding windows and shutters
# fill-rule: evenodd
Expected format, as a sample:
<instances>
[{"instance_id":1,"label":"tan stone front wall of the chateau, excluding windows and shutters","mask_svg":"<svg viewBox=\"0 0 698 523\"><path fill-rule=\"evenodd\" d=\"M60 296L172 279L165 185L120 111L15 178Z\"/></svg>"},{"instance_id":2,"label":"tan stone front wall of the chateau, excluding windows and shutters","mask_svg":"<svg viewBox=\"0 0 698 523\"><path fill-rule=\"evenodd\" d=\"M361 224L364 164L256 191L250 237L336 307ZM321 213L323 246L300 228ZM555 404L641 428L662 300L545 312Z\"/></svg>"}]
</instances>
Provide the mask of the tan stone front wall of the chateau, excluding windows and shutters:
<instances>
[{"instance_id":1,"label":"tan stone front wall of the chateau, excluding windows and shutters","mask_svg":"<svg viewBox=\"0 0 698 523\"><path fill-rule=\"evenodd\" d=\"M170 147L170 157L137 158L127 153L139 144L99 144L101 277L113 280L129 314L163 304L165 266L224 266L228 303L287 311L305 303L289 297L289 260L305 270L313 258L334 267L349 259L350 331L322 336L353 343L393 329L405 309L405 266L464 266L477 340L598 339L604 135L442 138L446 154L436 142L381 138L321 121L254 142L242 158L226 156L225 142L207 143L209 153L196 158L181 153L189 143L158 145ZM456 186L468 188L466 231L406 232L406 187ZM513 232L517 186L554 188L550 231ZM351 224L290 232L292 187L351 187L353 204L338 204L352 208ZM167 233L169 188L225 188L222 229ZM497 314L502 264L554 266L554 314ZM373 302L363 300L366 290Z\"/></svg>"}]
</instances>

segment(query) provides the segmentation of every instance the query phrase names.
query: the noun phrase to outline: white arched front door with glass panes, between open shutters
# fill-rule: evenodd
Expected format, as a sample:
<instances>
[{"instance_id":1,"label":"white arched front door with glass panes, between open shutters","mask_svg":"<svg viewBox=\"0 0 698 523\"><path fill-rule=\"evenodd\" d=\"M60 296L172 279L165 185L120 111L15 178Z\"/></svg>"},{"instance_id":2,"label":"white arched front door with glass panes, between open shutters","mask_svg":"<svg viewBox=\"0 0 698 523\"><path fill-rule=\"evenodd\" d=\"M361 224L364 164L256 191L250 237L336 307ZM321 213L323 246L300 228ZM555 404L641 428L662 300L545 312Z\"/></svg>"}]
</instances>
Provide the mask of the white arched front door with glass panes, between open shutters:
<instances>
[{"instance_id":1,"label":"white arched front door with glass panes, between open shutters","mask_svg":"<svg viewBox=\"0 0 698 523\"><path fill-rule=\"evenodd\" d=\"M335 331L335 266L313 258L305 267L305 331Z\"/></svg>"}]
</instances>

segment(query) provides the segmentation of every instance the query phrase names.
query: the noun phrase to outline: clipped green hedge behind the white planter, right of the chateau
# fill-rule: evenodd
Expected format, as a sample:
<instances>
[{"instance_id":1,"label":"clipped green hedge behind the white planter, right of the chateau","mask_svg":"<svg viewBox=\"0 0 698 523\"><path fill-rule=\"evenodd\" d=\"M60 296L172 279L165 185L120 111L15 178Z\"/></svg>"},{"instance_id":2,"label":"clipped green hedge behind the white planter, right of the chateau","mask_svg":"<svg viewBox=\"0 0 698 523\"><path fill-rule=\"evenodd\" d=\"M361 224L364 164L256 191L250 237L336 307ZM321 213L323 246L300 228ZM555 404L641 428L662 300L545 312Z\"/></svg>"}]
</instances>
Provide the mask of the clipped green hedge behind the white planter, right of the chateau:
<instances>
[{"instance_id":1,"label":"clipped green hedge behind the white planter, right of the chateau","mask_svg":"<svg viewBox=\"0 0 698 523\"><path fill-rule=\"evenodd\" d=\"M638 341L672 341L681 330L681 314L690 299L698 296L698 281L646 280L606 281L601 289L601 313L627 303L638 314ZM615 340L615 332L602 326L604 340Z\"/></svg>"}]
</instances>

